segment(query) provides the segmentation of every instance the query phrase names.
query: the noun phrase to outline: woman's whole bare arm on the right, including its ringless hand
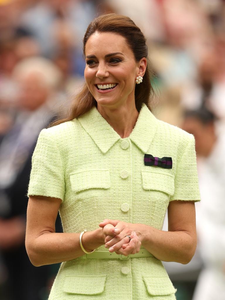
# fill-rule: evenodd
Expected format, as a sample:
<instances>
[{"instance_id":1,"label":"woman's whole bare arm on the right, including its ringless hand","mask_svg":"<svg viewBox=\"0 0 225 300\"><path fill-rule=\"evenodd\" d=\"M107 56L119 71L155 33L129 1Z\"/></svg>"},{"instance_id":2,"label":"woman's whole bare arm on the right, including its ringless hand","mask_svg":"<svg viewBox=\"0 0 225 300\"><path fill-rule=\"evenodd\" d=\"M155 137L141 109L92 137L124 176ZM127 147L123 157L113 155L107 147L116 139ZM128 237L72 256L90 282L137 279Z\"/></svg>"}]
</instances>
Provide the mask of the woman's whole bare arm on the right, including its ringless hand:
<instances>
[{"instance_id":1,"label":"woman's whole bare arm on the right, including its ringless hand","mask_svg":"<svg viewBox=\"0 0 225 300\"><path fill-rule=\"evenodd\" d=\"M133 224L119 220L104 220L99 226L111 223L120 229L120 234L106 238L106 246L113 251L128 255L121 240L132 231L137 233L145 249L162 261L186 264L190 262L196 249L195 205L193 201L171 201L168 206L168 231L162 231L145 224ZM123 248L123 250L122 250Z\"/></svg>"}]
</instances>

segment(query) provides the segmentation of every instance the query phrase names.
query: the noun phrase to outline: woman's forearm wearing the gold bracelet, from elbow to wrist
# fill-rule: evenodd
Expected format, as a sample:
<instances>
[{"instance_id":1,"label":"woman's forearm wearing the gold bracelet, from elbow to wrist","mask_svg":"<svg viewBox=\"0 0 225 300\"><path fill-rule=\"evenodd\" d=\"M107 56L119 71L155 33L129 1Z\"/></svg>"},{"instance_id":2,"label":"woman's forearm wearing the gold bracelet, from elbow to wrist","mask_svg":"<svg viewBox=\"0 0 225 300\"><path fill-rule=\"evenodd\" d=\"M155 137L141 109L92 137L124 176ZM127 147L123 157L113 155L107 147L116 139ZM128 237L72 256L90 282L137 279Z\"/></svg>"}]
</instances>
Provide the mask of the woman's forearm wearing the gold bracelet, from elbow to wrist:
<instances>
[{"instance_id":1,"label":"woman's forearm wearing the gold bracelet, from elbow to wrist","mask_svg":"<svg viewBox=\"0 0 225 300\"><path fill-rule=\"evenodd\" d=\"M83 256L79 243L80 233L45 232L35 239L26 238L26 249L33 265L49 265ZM82 244L91 251L104 244L102 229L85 232Z\"/></svg>"}]
</instances>

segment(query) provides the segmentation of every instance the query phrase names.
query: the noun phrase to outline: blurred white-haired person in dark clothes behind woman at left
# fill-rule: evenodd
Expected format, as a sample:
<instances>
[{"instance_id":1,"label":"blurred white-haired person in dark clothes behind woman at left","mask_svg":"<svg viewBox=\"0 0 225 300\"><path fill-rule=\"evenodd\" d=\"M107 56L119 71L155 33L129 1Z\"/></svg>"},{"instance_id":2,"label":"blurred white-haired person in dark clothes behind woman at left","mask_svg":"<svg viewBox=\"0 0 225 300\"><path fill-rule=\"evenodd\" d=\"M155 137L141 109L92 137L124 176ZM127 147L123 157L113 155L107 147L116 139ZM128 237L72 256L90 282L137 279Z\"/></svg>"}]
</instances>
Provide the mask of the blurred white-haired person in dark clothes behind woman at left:
<instances>
[{"instance_id":1,"label":"blurred white-haired person in dark clothes behind woman at left","mask_svg":"<svg viewBox=\"0 0 225 300\"><path fill-rule=\"evenodd\" d=\"M38 135L61 101L61 72L51 61L32 57L15 66L12 78L18 84L18 114L0 144L0 252L8 275L0 290L7 300L41 300L51 286L51 268L39 271L26 254L26 191Z\"/></svg>"}]
</instances>

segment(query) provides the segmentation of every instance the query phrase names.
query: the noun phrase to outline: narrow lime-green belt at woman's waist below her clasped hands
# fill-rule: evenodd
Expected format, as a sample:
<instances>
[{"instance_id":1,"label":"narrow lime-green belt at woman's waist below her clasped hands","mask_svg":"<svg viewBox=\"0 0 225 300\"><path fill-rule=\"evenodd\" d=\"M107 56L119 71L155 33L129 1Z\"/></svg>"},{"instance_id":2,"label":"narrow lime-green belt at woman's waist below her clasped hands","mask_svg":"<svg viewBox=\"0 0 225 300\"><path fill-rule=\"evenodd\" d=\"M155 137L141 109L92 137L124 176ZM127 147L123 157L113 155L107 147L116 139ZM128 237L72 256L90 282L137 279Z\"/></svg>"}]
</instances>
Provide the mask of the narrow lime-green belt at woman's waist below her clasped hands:
<instances>
[{"instance_id":1,"label":"narrow lime-green belt at woman's waist below her clasped hands","mask_svg":"<svg viewBox=\"0 0 225 300\"><path fill-rule=\"evenodd\" d=\"M128 256L124 256L122 254L116 254L115 252L110 253L109 251L104 251L104 250L96 250L93 253L90 254L85 254L82 257L83 258L100 258L100 259L112 259L112 258L117 258L121 260L129 259L132 257L148 257L148 256L153 256L152 253L147 251L146 249L141 249L138 253L136 254L129 254Z\"/></svg>"}]
</instances>

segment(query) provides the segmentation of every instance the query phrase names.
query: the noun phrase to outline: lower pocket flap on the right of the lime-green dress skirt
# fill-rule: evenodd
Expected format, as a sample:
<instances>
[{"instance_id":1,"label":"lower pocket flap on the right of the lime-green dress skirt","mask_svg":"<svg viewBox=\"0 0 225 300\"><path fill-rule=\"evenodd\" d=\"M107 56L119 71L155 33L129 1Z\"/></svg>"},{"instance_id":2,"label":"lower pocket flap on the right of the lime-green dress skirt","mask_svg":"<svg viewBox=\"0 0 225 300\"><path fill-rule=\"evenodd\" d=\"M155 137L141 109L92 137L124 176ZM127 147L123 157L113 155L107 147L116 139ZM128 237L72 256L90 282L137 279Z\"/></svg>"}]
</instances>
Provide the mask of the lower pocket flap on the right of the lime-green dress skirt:
<instances>
[{"instance_id":1,"label":"lower pocket flap on the right of the lime-green dress skirt","mask_svg":"<svg viewBox=\"0 0 225 300\"><path fill-rule=\"evenodd\" d=\"M174 288L169 277L143 276L143 280L146 284L149 294L152 296L164 296L174 294L176 292L176 289Z\"/></svg>"}]
</instances>

